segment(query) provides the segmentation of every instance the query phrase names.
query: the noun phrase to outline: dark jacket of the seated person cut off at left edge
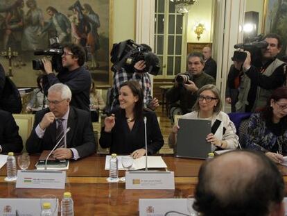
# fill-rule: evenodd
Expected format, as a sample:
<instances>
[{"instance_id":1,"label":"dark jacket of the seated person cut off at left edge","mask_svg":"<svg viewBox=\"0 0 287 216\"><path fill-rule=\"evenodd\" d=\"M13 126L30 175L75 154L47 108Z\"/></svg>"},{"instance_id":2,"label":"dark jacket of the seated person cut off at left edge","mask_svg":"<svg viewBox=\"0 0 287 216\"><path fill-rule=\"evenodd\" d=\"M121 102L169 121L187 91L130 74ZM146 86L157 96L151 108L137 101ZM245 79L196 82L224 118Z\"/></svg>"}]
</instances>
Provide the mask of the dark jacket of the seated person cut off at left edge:
<instances>
[{"instance_id":1,"label":"dark jacket of the seated person cut off at left edge","mask_svg":"<svg viewBox=\"0 0 287 216\"><path fill-rule=\"evenodd\" d=\"M0 145L2 152L21 152L23 141L19 136L19 126L17 126L12 114L0 110Z\"/></svg>"}]
</instances>

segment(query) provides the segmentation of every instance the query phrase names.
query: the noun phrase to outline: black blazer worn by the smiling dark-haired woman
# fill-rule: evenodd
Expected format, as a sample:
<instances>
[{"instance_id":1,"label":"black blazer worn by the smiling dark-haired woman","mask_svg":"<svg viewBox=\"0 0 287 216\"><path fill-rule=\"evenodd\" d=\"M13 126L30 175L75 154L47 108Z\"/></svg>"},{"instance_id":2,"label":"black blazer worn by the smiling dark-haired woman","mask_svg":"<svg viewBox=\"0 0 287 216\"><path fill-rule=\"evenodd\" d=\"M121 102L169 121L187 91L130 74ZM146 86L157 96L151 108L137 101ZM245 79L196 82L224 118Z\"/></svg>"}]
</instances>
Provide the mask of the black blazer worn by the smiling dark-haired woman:
<instances>
[{"instance_id":1,"label":"black blazer worn by the smiling dark-haired woman","mask_svg":"<svg viewBox=\"0 0 287 216\"><path fill-rule=\"evenodd\" d=\"M137 149L146 149L144 136L143 117L136 119L132 131L128 127L125 113L120 110L113 112L116 117L116 124L111 133L101 131L100 145L103 148L110 147L110 153L128 154ZM148 154L157 153L164 144L162 132L157 122L157 116L154 112L145 110L143 116L146 116L146 136L148 145Z\"/></svg>"}]
</instances>

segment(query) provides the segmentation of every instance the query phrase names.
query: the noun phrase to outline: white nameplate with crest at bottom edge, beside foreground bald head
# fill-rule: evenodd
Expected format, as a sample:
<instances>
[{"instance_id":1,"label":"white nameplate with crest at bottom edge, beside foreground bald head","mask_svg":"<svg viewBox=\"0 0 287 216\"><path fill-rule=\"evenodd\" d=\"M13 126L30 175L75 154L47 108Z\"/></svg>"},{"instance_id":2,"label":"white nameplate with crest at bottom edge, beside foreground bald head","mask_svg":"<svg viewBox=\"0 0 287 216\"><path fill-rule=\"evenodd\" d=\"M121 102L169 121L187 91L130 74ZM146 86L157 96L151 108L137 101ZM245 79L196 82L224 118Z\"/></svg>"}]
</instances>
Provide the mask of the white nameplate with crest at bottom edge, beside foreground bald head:
<instances>
[{"instance_id":1,"label":"white nameplate with crest at bottom edge, beside foreground bald head","mask_svg":"<svg viewBox=\"0 0 287 216\"><path fill-rule=\"evenodd\" d=\"M191 215L194 199L139 199L139 216Z\"/></svg>"}]
</instances>

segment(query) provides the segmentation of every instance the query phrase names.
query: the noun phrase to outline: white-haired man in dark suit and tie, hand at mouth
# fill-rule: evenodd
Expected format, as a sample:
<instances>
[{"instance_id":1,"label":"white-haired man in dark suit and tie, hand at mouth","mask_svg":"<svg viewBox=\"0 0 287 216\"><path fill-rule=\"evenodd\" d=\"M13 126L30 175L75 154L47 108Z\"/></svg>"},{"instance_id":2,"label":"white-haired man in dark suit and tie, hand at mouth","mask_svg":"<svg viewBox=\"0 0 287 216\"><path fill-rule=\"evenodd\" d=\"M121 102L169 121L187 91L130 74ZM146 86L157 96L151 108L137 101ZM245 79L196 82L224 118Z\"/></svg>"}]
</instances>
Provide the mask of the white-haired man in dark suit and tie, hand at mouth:
<instances>
[{"instance_id":1,"label":"white-haired man in dark suit and tie, hand at mouth","mask_svg":"<svg viewBox=\"0 0 287 216\"><path fill-rule=\"evenodd\" d=\"M33 131L26 142L29 153L51 150L67 133L64 142L53 152L54 158L78 159L89 156L96 151L92 122L89 112L69 106L71 90L67 85L58 83L48 90L49 108L40 110L35 115ZM60 129L62 128L62 130ZM60 132L59 132L60 131ZM66 146L66 147L65 147Z\"/></svg>"}]
</instances>

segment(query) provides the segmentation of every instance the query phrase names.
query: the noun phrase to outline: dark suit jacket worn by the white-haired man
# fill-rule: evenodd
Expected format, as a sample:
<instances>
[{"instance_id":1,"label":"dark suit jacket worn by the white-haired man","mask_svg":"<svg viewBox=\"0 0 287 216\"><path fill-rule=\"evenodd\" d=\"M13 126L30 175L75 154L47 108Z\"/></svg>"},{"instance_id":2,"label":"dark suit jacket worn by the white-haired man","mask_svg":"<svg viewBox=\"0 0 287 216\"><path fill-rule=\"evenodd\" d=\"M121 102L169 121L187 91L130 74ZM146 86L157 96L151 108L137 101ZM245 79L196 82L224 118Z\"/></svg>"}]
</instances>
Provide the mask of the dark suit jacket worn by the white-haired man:
<instances>
[{"instance_id":1,"label":"dark suit jacket worn by the white-haired man","mask_svg":"<svg viewBox=\"0 0 287 216\"><path fill-rule=\"evenodd\" d=\"M44 115L49 112L49 108L46 108L38 111L35 115L33 131L26 142L26 149L29 153L51 150L55 146L55 121L46 128L42 139L38 138L35 131ZM89 156L96 151L91 116L87 111L70 106L67 127L71 128L71 131L67 133L67 148L75 148L80 158Z\"/></svg>"}]
</instances>

